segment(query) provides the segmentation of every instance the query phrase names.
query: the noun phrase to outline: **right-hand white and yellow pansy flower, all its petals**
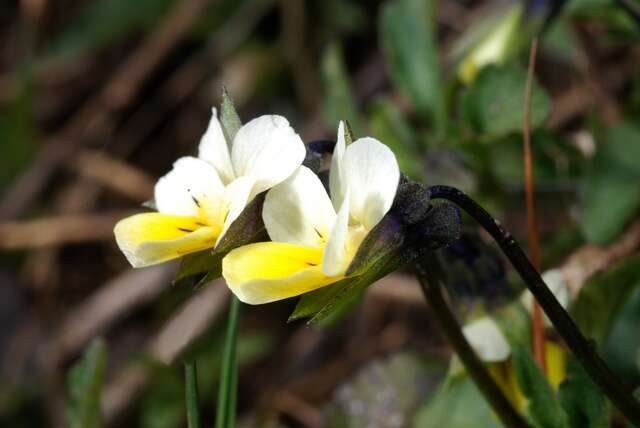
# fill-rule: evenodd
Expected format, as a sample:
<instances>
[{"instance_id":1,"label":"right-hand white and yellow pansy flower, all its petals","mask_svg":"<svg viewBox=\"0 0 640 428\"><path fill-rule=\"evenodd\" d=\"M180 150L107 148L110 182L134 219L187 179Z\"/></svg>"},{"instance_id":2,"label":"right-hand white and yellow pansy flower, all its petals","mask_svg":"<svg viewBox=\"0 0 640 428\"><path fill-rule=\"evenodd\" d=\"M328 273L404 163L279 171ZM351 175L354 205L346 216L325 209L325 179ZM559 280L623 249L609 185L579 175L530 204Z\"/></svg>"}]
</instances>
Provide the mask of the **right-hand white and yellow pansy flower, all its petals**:
<instances>
[{"instance_id":1,"label":"right-hand white and yellow pansy flower, all its petals","mask_svg":"<svg viewBox=\"0 0 640 428\"><path fill-rule=\"evenodd\" d=\"M393 204L400 170L391 150L373 138L346 145L338 127L327 194L302 166L267 193L262 217L272 242L232 250L222 274L250 304L298 296L345 278L360 244Z\"/></svg>"}]
</instances>

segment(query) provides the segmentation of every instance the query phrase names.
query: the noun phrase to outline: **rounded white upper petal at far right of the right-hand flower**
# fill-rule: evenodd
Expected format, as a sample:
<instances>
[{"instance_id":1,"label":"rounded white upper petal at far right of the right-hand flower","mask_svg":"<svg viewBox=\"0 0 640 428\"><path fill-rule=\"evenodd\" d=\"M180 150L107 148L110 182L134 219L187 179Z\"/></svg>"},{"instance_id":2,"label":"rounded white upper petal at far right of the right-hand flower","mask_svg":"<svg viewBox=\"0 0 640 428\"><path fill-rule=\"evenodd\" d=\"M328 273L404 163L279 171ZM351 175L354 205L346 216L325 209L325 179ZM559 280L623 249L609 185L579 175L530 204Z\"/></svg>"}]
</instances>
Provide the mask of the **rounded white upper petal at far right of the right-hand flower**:
<instances>
[{"instance_id":1,"label":"rounded white upper petal at far right of the right-hand flower","mask_svg":"<svg viewBox=\"0 0 640 428\"><path fill-rule=\"evenodd\" d=\"M342 160L344 185L349 190L351 217L371 230L391 208L400 169L393 152L366 137L350 144Z\"/></svg>"}]
</instances>

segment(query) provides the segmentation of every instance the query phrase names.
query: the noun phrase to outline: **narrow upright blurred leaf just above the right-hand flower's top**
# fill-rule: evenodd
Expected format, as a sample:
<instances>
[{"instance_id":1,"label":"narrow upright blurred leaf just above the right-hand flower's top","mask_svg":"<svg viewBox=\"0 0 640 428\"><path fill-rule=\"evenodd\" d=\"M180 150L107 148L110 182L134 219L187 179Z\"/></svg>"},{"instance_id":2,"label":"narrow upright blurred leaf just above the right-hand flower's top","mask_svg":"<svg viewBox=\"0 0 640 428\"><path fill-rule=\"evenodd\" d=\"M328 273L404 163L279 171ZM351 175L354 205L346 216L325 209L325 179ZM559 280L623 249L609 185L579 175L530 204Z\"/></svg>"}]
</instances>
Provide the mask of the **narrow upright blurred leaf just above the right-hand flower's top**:
<instances>
[{"instance_id":1,"label":"narrow upright blurred leaf just above the right-hand flower's top","mask_svg":"<svg viewBox=\"0 0 640 428\"><path fill-rule=\"evenodd\" d=\"M322 107L329 127L337 127L338 122L347 120L355 134L362 135L362 118L351 91L340 45L331 44L323 53L321 76L325 93Z\"/></svg>"}]
</instances>

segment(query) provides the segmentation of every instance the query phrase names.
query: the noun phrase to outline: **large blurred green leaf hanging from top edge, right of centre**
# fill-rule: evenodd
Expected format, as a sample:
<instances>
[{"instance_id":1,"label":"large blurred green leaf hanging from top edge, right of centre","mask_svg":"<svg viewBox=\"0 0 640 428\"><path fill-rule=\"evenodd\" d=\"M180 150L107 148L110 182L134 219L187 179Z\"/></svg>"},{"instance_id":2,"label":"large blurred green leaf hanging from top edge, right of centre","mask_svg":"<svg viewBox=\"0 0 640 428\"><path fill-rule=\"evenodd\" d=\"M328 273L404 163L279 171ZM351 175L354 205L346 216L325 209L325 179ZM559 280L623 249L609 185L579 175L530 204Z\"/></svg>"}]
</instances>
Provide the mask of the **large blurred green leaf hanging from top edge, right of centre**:
<instances>
[{"instance_id":1,"label":"large blurred green leaf hanging from top edge, right of centre","mask_svg":"<svg viewBox=\"0 0 640 428\"><path fill-rule=\"evenodd\" d=\"M434 1L395 0L382 9L379 32L391 79L442 134L446 113L435 31Z\"/></svg>"}]
</instances>

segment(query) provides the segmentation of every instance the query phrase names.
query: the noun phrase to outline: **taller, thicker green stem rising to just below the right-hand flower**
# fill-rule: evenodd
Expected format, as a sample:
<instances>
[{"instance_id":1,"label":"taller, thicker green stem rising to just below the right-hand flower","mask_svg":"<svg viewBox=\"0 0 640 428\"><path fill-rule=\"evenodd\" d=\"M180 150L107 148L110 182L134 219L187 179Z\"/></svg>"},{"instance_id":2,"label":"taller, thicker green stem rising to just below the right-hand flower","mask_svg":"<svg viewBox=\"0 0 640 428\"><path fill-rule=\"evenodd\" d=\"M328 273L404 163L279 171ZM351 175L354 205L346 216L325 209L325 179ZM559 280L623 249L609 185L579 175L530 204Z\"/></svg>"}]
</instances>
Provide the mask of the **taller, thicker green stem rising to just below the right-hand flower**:
<instances>
[{"instance_id":1,"label":"taller, thicker green stem rising to just below the right-hand flower","mask_svg":"<svg viewBox=\"0 0 640 428\"><path fill-rule=\"evenodd\" d=\"M216 428L234 428L236 413L236 396L238 389L238 367L236 347L238 343L238 318L240 301L234 296L229 307L227 336L224 343L220 386L218 388L218 406Z\"/></svg>"}]
</instances>

